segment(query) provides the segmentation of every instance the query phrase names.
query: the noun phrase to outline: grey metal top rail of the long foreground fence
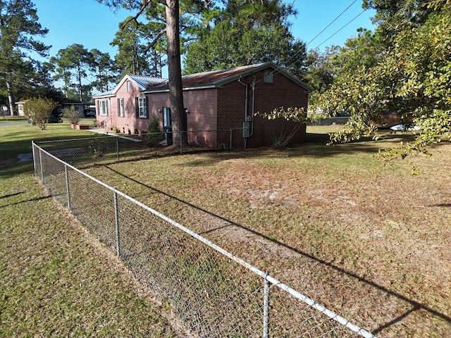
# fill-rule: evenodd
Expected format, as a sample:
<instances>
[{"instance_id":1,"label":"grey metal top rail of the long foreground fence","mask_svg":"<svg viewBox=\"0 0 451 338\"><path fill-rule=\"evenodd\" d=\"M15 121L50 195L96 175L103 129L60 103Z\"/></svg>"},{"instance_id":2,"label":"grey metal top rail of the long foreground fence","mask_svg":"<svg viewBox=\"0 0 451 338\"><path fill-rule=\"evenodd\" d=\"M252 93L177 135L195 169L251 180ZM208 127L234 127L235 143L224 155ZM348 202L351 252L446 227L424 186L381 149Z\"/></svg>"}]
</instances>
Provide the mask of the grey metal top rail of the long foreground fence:
<instances>
[{"instance_id":1,"label":"grey metal top rail of the long foreground fence","mask_svg":"<svg viewBox=\"0 0 451 338\"><path fill-rule=\"evenodd\" d=\"M150 213L153 213L157 217L166 220L166 222L170 223L171 225L174 225L175 227L178 227L178 229L182 230L183 232L190 234L190 236L198 239L200 242L203 242L207 246L210 246L212 249L215 249L219 253L222 253L224 256L230 258L231 260L235 261L236 263L244 266L248 270L251 270L256 275L259 275L259 277L263 278L264 280L267 280L274 286L278 287L279 289L282 289L285 292L288 292L290 295L294 296L296 299L299 299L300 301L306 303L311 308L314 308L316 311L319 311L323 313L324 315L327 315L330 319L335 320L336 322L340 323L341 325L344 325L348 329L356 332L357 334L361 335L364 338L377 338L375 335L373 335L371 332L364 330L362 327L359 327L358 325L354 325L350 323L349 320L346 318L343 318L342 316L338 315L337 313L328 310L325 306L322 306L320 303L316 303L313 299L304 296L304 294L301 294L300 292L297 292L295 289L292 289L287 284L280 282L274 277L271 277L267 272L264 272L260 270L259 268L254 267L254 265L247 263L247 261L243 260L242 258L239 258L235 256L233 253L230 253L226 251L225 249L221 248L221 246L218 246L214 244L213 242L209 241L209 239L206 239L205 237L202 237L201 235L197 234L196 232L188 229L184 225L181 225L178 222L175 222L175 220L172 220L171 218L168 218L166 215L163 215L162 213L159 213L158 211L154 210L153 208L150 208L149 206L146 206L145 204L142 204L142 202L137 201L136 199L133 199L132 197L128 196L127 194L124 194L123 192L119 191L116 188L110 187L108 184L101 182L100 180L97 180L97 178L92 177L88 175L87 173L84 173L82 170L75 168L73 165L70 165L69 163L66 163L62 161L60 158L57 158L56 156L49 154L48 151L45 151L44 149L40 148L34 141L32 141L32 146L37 146L41 151L44 151L44 153L47 154L47 156L50 156L51 158L54 158L56 161L59 161L66 165L66 168L70 168L72 170L75 170L80 175L83 175L87 177L89 180L92 180L98 184L100 184L102 187L109 189L114 194L118 194L119 196L122 196L124 199L127 199L128 201L137 204L138 206L144 208L145 210L149 211ZM34 147L33 147L34 148Z\"/></svg>"}]
</instances>

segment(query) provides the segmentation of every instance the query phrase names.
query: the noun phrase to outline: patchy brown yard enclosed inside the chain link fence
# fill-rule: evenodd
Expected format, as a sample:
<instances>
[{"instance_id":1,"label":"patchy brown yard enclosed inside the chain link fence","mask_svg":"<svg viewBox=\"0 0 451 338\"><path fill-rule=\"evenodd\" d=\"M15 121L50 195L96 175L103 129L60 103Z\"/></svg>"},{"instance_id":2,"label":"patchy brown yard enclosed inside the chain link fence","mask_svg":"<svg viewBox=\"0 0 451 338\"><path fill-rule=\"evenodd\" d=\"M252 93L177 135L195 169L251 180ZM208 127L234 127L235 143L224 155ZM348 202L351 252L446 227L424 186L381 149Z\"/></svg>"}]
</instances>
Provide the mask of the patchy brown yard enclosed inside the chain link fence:
<instances>
[{"instance_id":1,"label":"patchy brown yard enclosed inside the chain link fence","mask_svg":"<svg viewBox=\"0 0 451 338\"><path fill-rule=\"evenodd\" d=\"M451 144L383 142L118 163L90 174L378 337L451 337ZM417 175L412 175L412 168Z\"/></svg>"}]
</instances>

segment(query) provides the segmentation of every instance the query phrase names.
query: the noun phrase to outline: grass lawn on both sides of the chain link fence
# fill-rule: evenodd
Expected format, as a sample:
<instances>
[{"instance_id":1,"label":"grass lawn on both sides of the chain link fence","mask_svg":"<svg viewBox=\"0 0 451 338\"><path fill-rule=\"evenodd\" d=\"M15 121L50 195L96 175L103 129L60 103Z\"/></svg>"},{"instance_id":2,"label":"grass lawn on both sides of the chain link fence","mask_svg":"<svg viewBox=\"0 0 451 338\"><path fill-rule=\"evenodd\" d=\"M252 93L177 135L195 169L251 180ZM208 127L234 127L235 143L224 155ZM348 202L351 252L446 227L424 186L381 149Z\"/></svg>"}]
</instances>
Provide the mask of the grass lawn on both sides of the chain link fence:
<instances>
[{"instance_id":1,"label":"grass lawn on both sides of the chain link fence","mask_svg":"<svg viewBox=\"0 0 451 338\"><path fill-rule=\"evenodd\" d=\"M15 287L1 287L7 308L0 311L5 330L0 336L33 335L20 326L18 304L42 336L174 334L159 315L165 309L134 292L135 284L115 258L47 199L32 165L16 163L17 153L31 151L30 139L85 137L87 132L70 130L67 123L49 125L44 132L27 125L2 128L0 235L7 240L0 244L0 278L1 284ZM378 337L451 337L451 144L434 146L433 158L384 163L378 151L411 142L412 134L385 132L378 142L326 146L328 133L337 128L308 127L307 142L289 149L154 156L109 161L85 171ZM93 271L100 276L96 280ZM125 287L110 295L112 284ZM23 294L37 295L39 301L30 296L22 302ZM124 305L124 294L139 304ZM145 314L140 314L141 301ZM111 310L115 306L125 308ZM101 317L104 311L111 312ZM141 319L123 318L121 313L128 312ZM40 318L60 319L54 325ZM140 332L145 320L149 325L144 327L152 327L149 333ZM16 326L6 331L6 323Z\"/></svg>"}]
</instances>

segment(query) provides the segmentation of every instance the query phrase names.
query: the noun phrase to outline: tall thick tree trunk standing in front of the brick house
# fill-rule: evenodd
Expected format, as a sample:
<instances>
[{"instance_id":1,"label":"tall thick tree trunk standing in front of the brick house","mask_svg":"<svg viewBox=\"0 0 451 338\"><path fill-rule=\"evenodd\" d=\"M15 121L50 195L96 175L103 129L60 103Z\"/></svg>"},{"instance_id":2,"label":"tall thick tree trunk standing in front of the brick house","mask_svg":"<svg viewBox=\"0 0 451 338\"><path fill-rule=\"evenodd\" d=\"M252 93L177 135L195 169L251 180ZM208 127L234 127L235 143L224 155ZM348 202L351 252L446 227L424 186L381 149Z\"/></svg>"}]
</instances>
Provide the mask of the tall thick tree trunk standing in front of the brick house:
<instances>
[{"instance_id":1,"label":"tall thick tree trunk standing in front of the brick house","mask_svg":"<svg viewBox=\"0 0 451 338\"><path fill-rule=\"evenodd\" d=\"M166 1L166 38L168 39L169 102L173 128L173 144L187 144L183 108L182 66L180 64L180 28L178 0ZM181 138L180 138L181 136Z\"/></svg>"}]
</instances>

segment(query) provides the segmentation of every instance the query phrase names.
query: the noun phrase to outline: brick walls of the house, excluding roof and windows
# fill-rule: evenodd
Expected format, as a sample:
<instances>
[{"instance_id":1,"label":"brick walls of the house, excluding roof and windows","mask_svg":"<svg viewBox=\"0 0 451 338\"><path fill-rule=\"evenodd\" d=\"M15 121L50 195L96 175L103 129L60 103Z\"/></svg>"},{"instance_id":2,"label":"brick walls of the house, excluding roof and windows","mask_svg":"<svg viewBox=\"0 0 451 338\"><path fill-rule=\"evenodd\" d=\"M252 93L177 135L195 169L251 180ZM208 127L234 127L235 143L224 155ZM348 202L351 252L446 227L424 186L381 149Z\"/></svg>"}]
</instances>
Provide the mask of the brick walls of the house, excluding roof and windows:
<instances>
[{"instance_id":1,"label":"brick walls of the house, excluding roof and windows","mask_svg":"<svg viewBox=\"0 0 451 338\"><path fill-rule=\"evenodd\" d=\"M252 82L255 80L254 113L268 113L280 106L307 108L307 92L287 77L275 73L273 83L265 83L263 70L254 73L240 82L248 82L247 115L252 115ZM188 141L218 147L230 146L230 129L233 129L233 148L242 148L242 123L245 121L246 86L235 80L221 88L197 89L183 92L187 114ZM169 106L169 94L147 94L149 101L149 118L135 117L135 97L142 95L139 88L132 82L132 92L127 92L126 82L118 89L116 97L109 99L109 116L97 115L97 120L106 121L106 128L118 127L121 132L131 132L137 128L139 132L147 130L152 116L160 120L163 130L163 107ZM124 98L125 117L118 117L117 99ZM97 100L96 100L97 101ZM160 111L159 111L160 110ZM254 116L252 136L246 139L246 146L267 146L273 144L282 132L290 132L297 123L287 120L267 120L261 116ZM292 139L292 144L299 144L305 140L305 125L302 125Z\"/></svg>"}]
</instances>

